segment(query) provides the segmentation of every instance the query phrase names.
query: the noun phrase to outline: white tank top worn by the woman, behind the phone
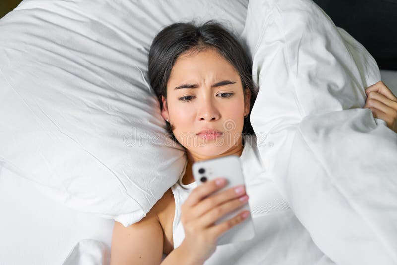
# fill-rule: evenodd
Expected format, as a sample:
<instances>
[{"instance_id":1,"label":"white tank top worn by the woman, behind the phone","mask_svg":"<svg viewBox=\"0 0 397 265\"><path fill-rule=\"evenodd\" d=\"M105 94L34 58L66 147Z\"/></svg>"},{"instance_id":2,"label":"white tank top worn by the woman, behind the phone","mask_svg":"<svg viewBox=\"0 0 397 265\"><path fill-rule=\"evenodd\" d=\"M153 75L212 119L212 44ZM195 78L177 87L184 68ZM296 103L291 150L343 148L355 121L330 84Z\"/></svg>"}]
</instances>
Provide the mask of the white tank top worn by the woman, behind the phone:
<instances>
[{"instance_id":1,"label":"white tank top worn by the woman, behind the phone","mask_svg":"<svg viewBox=\"0 0 397 265\"><path fill-rule=\"evenodd\" d=\"M250 196L249 205L251 209L251 216L254 221L254 228L256 232L255 238L258 239L261 237L260 234L261 229L260 227L258 227L261 225L261 222L256 222L255 218L260 216L272 215L280 212L289 212L289 214L291 214L291 209L288 203L286 202L286 200L278 192L278 189L276 188L274 182L266 176L266 172L262 165L259 152L256 146L256 136L244 135L243 139L244 139L244 148L240 156L240 161L242 164L244 179L246 181L246 192ZM180 222L181 205L187 199L190 192L197 187L196 182L192 182L187 185L183 184L182 178L184 174L185 174L185 170L184 172L182 172L181 176L179 177L178 182L171 187L175 198L175 216L172 226L174 249L177 248L185 238L184 229L182 223ZM262 236L267 237L267 235L262 235ZM252 242L252 244L256 242L255 244L258 244L257 240L251 240L248 242ZM229 262L233 262L233 264L237 264L236 257L232 257L231 253L236 253L236 254L238 253L234 249L237 246L239 246L238 243L218 246L217 251L214 253L214 255L212 255L213 257L211 256L210 258L214 261L213 264L219 262L225 262L225 261L229 261ZM247 245L247 242L243 244ZM229 249L232 248L230 250L232 250L233 252L229 252L227 250L228 248ZM227 253L227 255L220 255L220 256L215 255L220 249L223 249L224 251L227 250L225 252ZM262 251L262 253L265 252ZM239 255L241 256L241 254ZM251 258L250 261L252 262ZM208 262L209 260L205 264L210 264Z\"/></svg>"}]
</instances>

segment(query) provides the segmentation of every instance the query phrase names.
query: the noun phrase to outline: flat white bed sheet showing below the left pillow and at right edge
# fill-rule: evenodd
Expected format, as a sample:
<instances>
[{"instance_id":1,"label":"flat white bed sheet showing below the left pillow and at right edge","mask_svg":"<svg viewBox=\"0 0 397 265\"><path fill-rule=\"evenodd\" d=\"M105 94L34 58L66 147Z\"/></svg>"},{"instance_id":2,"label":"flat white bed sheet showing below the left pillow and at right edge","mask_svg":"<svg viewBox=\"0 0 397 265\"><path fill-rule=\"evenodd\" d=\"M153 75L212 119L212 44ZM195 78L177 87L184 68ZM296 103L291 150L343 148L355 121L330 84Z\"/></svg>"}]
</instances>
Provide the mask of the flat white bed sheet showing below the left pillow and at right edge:
<instances>
[{"instance_id":1,"label":"flat white bed sheet showing below the left pillow and at right edge","mask_svg":"<svg viewBox=\"0 0 397 265\"><path fill-rule=\"evenodd\" d=\"M397 71L381 69L397 95ZM0 164L0 265L109 264L114 220L72 210Z\"/></svg>"}]
</instances>

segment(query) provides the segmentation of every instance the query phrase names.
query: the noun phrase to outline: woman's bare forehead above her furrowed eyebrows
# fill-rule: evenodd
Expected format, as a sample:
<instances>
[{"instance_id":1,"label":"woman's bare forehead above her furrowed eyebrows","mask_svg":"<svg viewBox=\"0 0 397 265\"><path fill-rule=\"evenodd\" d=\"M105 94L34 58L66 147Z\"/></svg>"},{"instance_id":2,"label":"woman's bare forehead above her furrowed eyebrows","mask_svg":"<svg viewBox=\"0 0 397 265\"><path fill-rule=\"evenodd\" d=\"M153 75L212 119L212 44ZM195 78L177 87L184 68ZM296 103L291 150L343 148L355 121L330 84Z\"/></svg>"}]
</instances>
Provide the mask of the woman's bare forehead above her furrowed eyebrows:
<instances>
[{"instance_id":1,"label":"woman's bare forehead above her furrowed eyebrows","mask_svg":"<svg viewBox=\"0 0 397 265\"><path fill-rule=\"evenodd\" d=\"M172 67L169 82L189 78L217 79L236 76L237 70L216 49L205 49L180 55Z\"/></svg>"}]
</instances>

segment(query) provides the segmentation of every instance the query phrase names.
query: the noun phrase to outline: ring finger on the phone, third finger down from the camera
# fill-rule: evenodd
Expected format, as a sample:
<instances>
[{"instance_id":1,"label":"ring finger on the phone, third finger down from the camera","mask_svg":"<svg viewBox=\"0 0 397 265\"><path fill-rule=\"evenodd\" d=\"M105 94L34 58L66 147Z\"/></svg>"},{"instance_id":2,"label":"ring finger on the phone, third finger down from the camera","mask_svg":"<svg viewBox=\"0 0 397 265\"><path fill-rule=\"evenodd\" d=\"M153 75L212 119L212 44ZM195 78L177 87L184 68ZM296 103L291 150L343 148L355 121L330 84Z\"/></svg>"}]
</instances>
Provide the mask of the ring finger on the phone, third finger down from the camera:
<instances>
[{"instance_id":1,"label":"ring finger on the phone, third finger down from the camera","mask_svg":"<svg viewBox=\"0 0 397 265\"><path fill-rule=\"evenodd\" d=\"M225 214L230 213L246 204L248 201L248 195L242 195L236 199L225 202L212 208L206 212L203 216L198 219L199 227L208 227L215 223L219 218L223 217Z\"/></svg>"}]
</instances>

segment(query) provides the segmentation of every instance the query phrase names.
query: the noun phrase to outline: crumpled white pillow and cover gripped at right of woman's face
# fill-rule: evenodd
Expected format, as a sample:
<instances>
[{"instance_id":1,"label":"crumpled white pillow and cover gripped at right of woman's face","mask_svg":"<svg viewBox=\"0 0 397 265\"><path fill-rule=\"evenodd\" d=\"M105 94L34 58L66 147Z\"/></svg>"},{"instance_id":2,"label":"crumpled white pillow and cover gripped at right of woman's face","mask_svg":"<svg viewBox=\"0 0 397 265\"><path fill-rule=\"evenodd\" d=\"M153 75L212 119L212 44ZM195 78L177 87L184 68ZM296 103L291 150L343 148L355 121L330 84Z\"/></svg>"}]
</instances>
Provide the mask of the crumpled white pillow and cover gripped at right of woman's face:
<instances>
[{"instance_id":1,"label":"crumpled white pillow and cover gripped at right of woman's face","mask_svg":"<svg viewBox=\"0 0 397 265\"><path fill-rule=\"evenodd\" d=\"M251 0L242 37L269 177L336 264L396 264L397 134L362 109L373 57L311 0Z\"/></svg>"}]
</instances>

